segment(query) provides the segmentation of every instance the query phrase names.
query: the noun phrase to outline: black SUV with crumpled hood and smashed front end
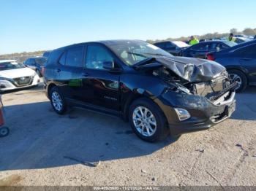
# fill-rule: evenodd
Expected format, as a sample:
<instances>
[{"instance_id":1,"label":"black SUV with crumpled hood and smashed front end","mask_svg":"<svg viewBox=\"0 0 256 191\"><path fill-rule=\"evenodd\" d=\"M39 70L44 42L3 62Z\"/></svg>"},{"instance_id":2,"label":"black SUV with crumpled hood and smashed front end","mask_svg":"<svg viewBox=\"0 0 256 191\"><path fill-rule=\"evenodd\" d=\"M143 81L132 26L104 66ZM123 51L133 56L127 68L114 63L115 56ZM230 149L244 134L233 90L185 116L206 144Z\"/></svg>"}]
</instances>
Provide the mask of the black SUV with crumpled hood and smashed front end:
<instances>
[{"instance_id":1,"label":"black SUV with crumpled hood and smashed front end","mask_svg":"<svg viewBox=\"0 0 256 191\"><path fill-rule=\"evenodd\" d=\"M61 47L50 52L44 72L58 114L81 106L118 115L146 141L210 128L236 106L236 83L223 66L138 40Z\"/></svg>"}]
</instances>

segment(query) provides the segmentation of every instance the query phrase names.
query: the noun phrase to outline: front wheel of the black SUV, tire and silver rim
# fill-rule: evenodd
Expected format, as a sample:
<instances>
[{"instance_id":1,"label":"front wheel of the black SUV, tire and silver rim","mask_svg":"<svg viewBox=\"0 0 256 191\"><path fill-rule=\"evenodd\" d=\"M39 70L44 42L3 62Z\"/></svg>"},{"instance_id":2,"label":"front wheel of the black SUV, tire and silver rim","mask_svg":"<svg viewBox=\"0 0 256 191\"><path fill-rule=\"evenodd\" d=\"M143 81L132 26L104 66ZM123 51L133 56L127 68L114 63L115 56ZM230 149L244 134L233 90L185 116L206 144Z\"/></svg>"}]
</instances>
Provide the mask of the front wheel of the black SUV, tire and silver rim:
<instances>
[{"instance_id":1,"label":"front wheel of the black SUV, tire and silver rim","mask_svg":"<svg viewBox=\"0 0 256 191\"><path fill-rule=\"evenodd\" d=\"M148 98L139 98L132 103L129 123L135 134L144 141L161 141L169 133L165 114Z\"/></svg>"}]
</instances>

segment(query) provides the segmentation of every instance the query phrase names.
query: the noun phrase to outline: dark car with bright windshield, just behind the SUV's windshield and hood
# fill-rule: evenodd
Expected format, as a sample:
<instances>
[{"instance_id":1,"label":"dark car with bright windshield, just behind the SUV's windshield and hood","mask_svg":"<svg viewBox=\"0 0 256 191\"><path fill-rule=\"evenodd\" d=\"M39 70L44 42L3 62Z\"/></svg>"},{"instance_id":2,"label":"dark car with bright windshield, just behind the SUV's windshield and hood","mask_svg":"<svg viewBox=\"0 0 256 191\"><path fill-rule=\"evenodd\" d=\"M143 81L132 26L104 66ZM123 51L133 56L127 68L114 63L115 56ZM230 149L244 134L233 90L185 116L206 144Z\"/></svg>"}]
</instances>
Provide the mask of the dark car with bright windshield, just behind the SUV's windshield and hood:
<instances>
[{"instance_id":1,"label":"dark car with bright windshield, just behind the SUV's windshield and hood","mask_svg":"<svg viewBox=\"0 0 256 191\"><path fill-rule=\"evenodd\" d=\"M183 50L189 47L189 44L181 41L165 41L154 43L155 46L169 52L172 55L182 55Z\"/></svg>"}]
</instances>

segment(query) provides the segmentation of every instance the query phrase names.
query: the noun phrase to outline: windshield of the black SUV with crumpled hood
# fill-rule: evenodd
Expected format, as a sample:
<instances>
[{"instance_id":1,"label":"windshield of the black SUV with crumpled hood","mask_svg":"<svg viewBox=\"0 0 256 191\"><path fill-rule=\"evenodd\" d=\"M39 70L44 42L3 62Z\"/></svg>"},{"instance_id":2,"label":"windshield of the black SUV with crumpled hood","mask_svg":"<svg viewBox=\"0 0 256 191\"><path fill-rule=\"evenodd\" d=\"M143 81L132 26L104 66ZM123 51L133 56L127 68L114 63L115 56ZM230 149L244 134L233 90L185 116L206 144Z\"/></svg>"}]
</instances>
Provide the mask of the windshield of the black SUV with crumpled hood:
<instances>
[{"instance_id":1,"label":"windshield of the black SUV with crumpled hood","mask_svg":"<svg viewBox=\"0 0 256 191\"><path fill-rule=\"evenodd\" d=\"M123 43L109 44L113 52L128 66L143 61L147 58L159 56L173 56L165 50L143 41L127 41Z\"/></svg>"}]
</instances>

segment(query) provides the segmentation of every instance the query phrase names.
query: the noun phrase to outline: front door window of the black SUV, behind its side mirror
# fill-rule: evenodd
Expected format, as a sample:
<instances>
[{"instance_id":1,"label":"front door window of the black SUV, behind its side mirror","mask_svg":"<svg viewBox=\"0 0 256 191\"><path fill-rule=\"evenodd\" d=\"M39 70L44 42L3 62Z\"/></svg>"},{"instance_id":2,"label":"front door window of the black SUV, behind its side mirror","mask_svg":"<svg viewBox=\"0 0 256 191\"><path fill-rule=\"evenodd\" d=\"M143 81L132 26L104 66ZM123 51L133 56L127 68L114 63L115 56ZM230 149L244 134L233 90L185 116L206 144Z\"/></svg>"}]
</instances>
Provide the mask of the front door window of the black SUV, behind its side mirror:
<instances>
[{"instance_id":1,"label":"front door window of the black SUV, behind its side mirror","mask_svg":"<svg viewBox=\"0 0 256 191\"><path fill-rule=\"evenodd\" d=\"M86 68L103 69L104 62L113 62L110 52L98 45L89 45L86 51Z\"/></svg>"}]
</instances>

